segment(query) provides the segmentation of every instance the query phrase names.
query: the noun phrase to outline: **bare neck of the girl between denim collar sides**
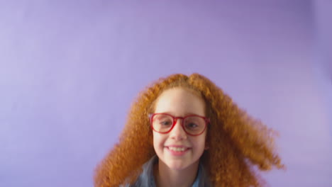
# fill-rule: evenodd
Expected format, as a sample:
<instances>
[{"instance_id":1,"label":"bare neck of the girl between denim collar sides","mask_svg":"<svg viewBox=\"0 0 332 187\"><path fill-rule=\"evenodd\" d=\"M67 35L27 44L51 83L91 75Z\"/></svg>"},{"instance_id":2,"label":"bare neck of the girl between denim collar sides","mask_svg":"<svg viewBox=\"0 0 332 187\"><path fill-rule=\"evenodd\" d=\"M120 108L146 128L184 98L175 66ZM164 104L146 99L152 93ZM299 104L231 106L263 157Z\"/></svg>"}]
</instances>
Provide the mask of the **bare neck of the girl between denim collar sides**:
<instances>
[{"instance_id":1,"label":"bare neck of the girl between denim collar sides","mask_svg":"<svg viewBox=\"0 0 332 187\"><path fill-rule=\"evenodd\" d=\"M165 163L158 161L155 164L153 173L157 187L179 186L189 187L194 183L199 169L199 162L195 162L186 169L170 169Z\"/></svg>"}]
</instances>

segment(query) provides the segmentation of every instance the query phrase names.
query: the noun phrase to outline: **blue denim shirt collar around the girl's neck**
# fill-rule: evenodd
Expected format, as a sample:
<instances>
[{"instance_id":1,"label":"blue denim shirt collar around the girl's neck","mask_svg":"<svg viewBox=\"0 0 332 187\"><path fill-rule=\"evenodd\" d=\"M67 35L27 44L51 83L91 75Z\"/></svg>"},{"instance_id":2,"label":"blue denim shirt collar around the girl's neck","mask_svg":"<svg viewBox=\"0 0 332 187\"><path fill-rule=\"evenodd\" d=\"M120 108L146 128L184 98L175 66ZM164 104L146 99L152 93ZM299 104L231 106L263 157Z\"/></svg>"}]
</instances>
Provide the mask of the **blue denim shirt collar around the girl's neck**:
<instances>
[{"instance_id":1,"label":"blue denim shirt collar around the girl's neck","mask_svg":"<svg viewBox=\"0 0 332 187\"><path fill-rule=\"evenodd\" d=\"M126 184L126 187L156 187L155 177L153 176L153 165L158 161L157 156L153 156L143 165L143 171L138 176L133 185ZM210 187L209 179L204 171L204 166L199 163L199 171L192 187Z\"/></svg>"}]
</instances>

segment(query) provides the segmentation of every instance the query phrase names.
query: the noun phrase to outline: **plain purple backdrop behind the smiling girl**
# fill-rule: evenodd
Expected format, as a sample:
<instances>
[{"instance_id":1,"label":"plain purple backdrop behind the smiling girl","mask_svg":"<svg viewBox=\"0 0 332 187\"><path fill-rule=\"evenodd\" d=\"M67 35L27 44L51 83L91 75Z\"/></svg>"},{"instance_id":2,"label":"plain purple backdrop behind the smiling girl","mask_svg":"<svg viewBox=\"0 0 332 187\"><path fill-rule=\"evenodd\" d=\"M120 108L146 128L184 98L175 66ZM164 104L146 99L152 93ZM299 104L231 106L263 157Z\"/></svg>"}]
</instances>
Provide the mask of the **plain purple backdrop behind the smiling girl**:
<instances>
[{"instance_id":1,"label":"plain purple backdrop behind the smiling girl","mask_svg":"<svg viewBox=\"0 0 332 187\"><path fill-rule=\"evenodd\" d=\"M0 186L93 186L138 91L199 72L332 186L332 1L0 1Z\"/></svg>"}]
</instances>

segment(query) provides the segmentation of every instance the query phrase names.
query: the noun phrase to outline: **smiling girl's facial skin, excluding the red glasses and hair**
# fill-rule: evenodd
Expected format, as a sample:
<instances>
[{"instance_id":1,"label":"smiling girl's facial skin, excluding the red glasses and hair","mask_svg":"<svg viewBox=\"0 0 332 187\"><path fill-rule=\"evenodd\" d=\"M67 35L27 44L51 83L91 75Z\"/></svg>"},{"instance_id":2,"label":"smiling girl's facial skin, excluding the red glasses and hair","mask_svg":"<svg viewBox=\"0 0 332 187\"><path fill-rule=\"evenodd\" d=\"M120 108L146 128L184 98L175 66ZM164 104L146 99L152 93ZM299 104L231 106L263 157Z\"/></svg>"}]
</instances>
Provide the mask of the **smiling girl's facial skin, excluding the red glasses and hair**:
<instances>
[{"instance_id":1,"label":"smiling girl's facial skin, excluding the red glasses and hair","mask_svg":"<svg viewBox=\"0 0 332 187\"><path fill-rule=\"evenodd\" d=\"M202 98L182 88L167 89L155 103L155 113L167 113L176 117L187 115L205 116ZM197 165L205 149L206 130L201 135L191 136L182 128L178 119L167 134L153 131L153 147L160 162L170 169L186 169Z\"/></svg>"}]
</instances>

